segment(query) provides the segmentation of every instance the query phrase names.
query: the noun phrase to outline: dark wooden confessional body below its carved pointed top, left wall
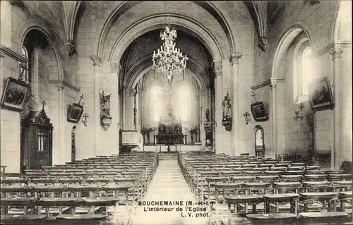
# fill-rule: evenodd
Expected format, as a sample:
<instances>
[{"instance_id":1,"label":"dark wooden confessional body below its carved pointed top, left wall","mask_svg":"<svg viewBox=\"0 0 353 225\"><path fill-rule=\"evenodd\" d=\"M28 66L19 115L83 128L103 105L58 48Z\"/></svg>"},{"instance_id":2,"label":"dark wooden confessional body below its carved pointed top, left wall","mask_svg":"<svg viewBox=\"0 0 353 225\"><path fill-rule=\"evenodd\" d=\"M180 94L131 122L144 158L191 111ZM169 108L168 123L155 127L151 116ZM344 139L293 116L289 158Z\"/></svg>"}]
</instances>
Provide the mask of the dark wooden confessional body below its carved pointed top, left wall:
<instances>
[{"instance_id":1,"label":"dark wooden confessional body below its carved pointed top, left wall","mask_svg":"<svg viewBox=\"0 0 353 225\"><path fill-rule=\"evenodd\" d=\"M52 126L23 124L20 151L21 169L52 166Z\"/></svg>"}]
</instances>

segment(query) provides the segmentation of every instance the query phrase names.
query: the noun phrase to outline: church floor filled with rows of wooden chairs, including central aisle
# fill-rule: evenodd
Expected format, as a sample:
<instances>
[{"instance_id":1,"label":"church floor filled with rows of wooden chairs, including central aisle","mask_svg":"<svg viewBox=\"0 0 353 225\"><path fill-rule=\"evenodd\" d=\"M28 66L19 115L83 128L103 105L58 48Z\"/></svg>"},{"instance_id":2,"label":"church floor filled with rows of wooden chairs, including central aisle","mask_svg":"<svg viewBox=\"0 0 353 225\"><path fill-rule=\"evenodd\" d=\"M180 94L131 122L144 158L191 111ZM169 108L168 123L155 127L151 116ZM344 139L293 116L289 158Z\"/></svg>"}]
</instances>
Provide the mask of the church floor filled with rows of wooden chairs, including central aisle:
<instances>
[{"instance_id":1,"label":"church floor filled with rows of wooden chairs, including central aisle","mask_svg":"<svg viewBox=\"0 0 353 225\"><path fill-rule=\"evenodd\" d=\"M210 152L91 157L1 173L1 224L352 224L352 175Z\"/></svg>"}]
</instances>

